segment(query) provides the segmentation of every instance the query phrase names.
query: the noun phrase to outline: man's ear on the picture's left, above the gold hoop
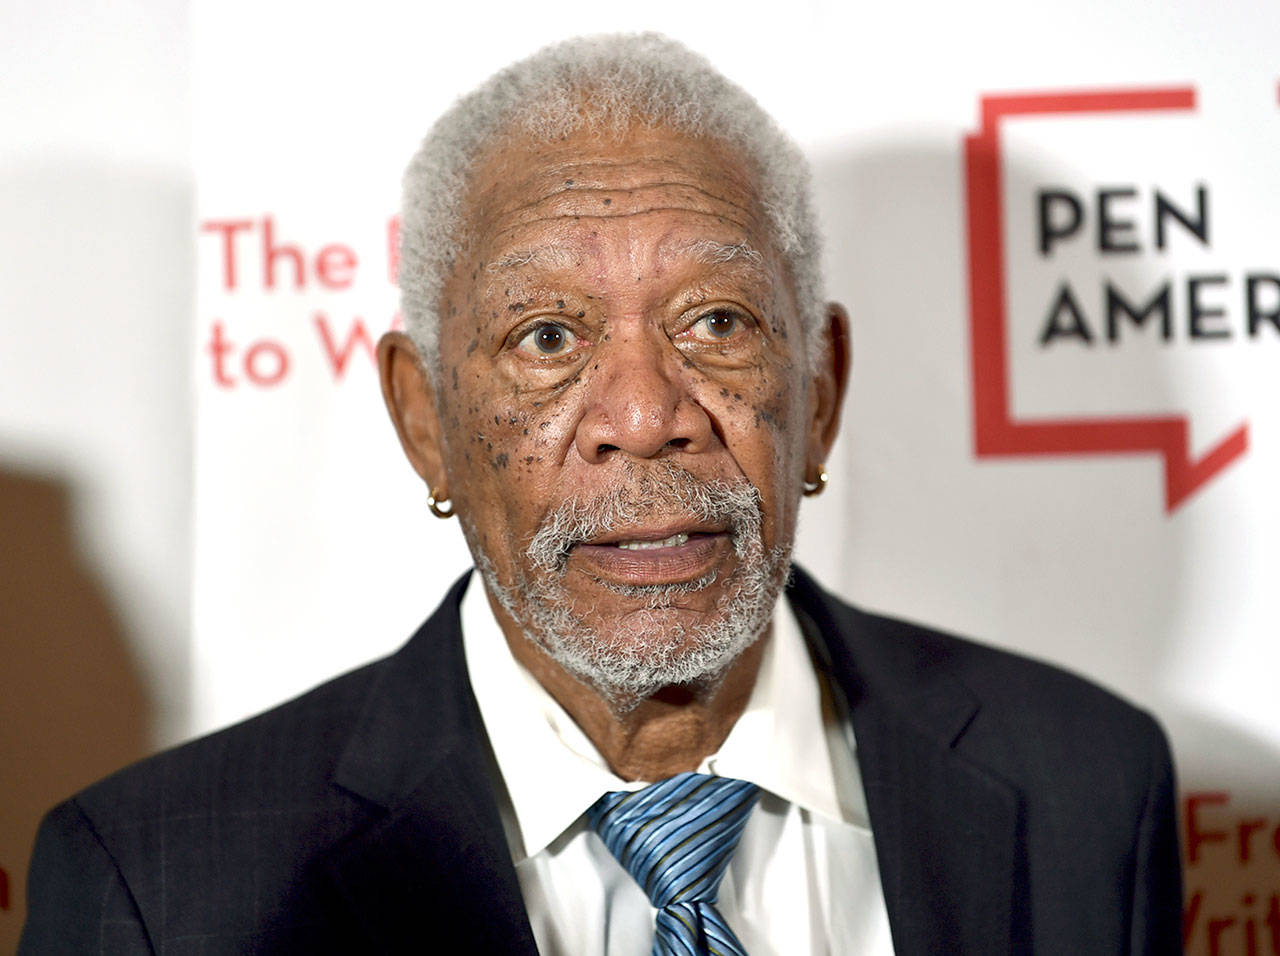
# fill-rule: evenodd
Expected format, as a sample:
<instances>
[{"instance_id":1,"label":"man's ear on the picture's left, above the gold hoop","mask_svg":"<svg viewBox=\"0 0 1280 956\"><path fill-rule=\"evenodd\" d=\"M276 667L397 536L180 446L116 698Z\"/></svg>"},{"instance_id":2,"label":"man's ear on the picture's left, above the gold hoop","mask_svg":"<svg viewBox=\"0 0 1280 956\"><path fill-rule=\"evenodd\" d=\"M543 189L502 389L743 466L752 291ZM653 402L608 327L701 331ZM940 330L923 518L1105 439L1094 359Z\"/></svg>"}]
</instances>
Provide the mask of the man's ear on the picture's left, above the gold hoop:
<instances>
[{"instance_id":1,"label":"man's ear on the picture's left, above the gold hoop","mask_svg":"<svg viewBox=\"0 0 1280 956\"><path fill-rule=\"evenodd\" d=\"M378 340L378 374L383 383L383 401L404 457L431 494L439 500L448 499L435 385L408 335L388 331Z\"/></svg>"}]
</instances>

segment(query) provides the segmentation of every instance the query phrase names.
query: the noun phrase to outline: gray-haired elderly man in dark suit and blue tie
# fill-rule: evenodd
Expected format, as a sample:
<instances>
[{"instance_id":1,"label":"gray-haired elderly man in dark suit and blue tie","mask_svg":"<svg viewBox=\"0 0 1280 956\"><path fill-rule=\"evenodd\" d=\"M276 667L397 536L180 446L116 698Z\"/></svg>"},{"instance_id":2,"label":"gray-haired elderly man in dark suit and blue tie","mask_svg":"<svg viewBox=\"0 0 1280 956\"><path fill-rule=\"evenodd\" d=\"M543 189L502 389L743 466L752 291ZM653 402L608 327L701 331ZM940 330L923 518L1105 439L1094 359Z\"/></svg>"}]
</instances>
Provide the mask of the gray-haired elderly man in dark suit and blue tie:
<instances>
[{"instance_id":1,"label":"gray-haired elderly man in dark suit and blue tie","mask_svg":"<svg viewBox=\"0 0 1280 956\"><path fill-rule=\"evenodd\" d=\"M805 164L657 37L406 175L383 390L480 573L396 655L56 808L23 952L1174 952L1167 749L790 563L849 365Z\"/></svg>"}]
</instances>

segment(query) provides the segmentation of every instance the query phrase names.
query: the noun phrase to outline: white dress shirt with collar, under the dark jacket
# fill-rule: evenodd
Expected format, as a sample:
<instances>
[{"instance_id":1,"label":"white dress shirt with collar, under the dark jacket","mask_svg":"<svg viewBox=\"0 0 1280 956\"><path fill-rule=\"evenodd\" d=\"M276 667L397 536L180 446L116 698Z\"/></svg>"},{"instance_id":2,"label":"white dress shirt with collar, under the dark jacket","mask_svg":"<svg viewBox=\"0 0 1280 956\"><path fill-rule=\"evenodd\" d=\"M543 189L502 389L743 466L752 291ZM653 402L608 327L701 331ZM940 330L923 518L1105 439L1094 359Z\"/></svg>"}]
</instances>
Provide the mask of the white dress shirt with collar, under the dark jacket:
<instances>
[{"instance_id":1,"label":"white dress shirt with collar, under the dark jacket","mask_svg":"<svg viewBox=\"0 0 1280 956\"><path fill-rule=\"evenodd\" d=\"M618 778L512 655L479 575L462 600L467 671L506 785L499 809L543 956L648 956L654 907L586 824ZM717 909L749 956L892 953L852 729L822 706L785 598L742 715L700 773L764 792L721 883Z\"/></svg>"}]
</instances>

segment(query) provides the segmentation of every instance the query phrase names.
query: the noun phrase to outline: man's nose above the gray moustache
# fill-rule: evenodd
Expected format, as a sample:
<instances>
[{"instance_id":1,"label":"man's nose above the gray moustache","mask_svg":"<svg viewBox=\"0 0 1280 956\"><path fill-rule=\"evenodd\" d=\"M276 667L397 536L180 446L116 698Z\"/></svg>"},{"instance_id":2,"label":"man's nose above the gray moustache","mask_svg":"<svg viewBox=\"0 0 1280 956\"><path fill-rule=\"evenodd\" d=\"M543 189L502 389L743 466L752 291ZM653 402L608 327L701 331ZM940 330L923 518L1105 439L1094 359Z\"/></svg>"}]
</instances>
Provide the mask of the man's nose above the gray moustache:
<instances>
[{"instance_id":1,"label":"man's nose above the gray moustache","mask_svg":"<svg viewBox=\"0 0 1280 956\"><path fill-rule=\"evenodd\" d=\"M705 450L710 416L690 390L692 372L664 335L611 335L590 362L588 408L576 444L584 461L614 452L653 458L664 449Z\"/></svg>"}]
</instances>

